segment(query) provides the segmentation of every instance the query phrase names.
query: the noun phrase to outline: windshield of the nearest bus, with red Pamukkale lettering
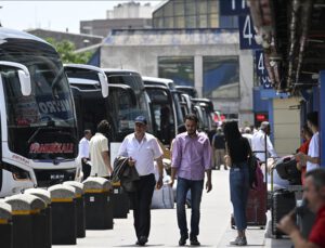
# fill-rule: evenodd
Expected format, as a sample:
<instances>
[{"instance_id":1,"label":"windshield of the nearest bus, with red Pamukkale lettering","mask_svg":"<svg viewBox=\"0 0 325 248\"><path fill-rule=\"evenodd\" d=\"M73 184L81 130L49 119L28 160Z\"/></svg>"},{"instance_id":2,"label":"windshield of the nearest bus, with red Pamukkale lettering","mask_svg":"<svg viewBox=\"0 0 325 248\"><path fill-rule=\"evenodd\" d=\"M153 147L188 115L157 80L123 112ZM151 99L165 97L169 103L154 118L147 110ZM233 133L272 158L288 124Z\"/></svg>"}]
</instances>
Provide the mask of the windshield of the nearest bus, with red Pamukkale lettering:
<instances>
[{"instance_id":1,"label":"windshield of the nearest bus, with red Pamukkale lettering","mask_svg":"<svg viewBox=\"0 0 325 248\"><path fill-rule=\"evenodd\" d=\"M1 60L24 64L31 81L31 94L24 96L17 69L1 66L10 148L35 159L74 158L75 112L60 57L20 52Z\"/></svg>"}]
</instances>

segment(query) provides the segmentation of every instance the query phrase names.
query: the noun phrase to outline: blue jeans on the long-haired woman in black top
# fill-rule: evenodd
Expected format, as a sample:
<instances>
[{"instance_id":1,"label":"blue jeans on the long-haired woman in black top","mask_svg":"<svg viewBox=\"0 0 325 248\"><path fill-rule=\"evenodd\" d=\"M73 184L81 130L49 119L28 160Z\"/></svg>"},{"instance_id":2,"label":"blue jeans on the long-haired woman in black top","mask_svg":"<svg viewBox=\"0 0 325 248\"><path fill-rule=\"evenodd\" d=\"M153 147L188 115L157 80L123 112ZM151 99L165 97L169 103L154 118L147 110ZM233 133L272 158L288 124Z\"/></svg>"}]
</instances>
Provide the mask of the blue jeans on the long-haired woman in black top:
<instances>
[{"instance_id":1,"label":"blue jeans on the long-haired woman in black top","mask_svg":"<svg viewBox=\"0 0 325 248\"><path fill-rule=\"evenodd\" d=\"M239 168L238 168L239 167ZM248 166L246 162L233 165L230 171L230 192L234 219L238 231L247 227L246 205L249 192Z\"/></svg>"}]
</instances>

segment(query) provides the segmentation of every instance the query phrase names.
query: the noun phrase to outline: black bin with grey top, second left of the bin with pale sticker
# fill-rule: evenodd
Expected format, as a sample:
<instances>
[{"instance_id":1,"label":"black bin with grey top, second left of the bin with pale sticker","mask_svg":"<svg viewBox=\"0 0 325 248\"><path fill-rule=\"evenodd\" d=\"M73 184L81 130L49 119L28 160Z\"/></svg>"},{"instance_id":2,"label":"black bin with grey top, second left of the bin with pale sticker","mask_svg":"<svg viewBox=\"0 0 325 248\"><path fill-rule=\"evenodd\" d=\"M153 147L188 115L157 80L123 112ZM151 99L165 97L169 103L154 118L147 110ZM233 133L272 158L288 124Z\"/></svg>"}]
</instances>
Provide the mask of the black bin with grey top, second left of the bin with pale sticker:
<instances>
[{"instance_id":1,"label":"black bin with grey top, second left of the bin with pale sticker","mask_svg":"<svg viewBox=\"0 0 325 248\"><path fill-rule=\"evenodd\" d=\"M48 191L52 201L52 245L76 245L76 190L73 186L56 184Z\"/></svg>"}]
</instances>

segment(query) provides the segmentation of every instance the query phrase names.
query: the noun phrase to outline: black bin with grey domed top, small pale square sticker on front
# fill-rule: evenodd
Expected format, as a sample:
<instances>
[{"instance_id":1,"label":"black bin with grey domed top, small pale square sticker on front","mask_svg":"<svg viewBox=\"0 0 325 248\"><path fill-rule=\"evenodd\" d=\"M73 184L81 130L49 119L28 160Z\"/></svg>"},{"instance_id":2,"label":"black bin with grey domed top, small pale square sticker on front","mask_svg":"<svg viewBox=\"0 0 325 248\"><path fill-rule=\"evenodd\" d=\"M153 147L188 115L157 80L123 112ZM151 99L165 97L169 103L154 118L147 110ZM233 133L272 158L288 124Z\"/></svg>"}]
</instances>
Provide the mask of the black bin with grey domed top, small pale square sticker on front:
<instances>
[{"instance_id":1,"label":"black bin with grey domed top, small pale square sticker on front","mask_svg":"<svg viewBox=\"0 0 325 248\"><path fill-rule=\"evenodd\" d=\"M86 229L112 230L113 206L110 182L103 178L88 178L83 181L86 204Z\"/></svg>"}]
</instances>

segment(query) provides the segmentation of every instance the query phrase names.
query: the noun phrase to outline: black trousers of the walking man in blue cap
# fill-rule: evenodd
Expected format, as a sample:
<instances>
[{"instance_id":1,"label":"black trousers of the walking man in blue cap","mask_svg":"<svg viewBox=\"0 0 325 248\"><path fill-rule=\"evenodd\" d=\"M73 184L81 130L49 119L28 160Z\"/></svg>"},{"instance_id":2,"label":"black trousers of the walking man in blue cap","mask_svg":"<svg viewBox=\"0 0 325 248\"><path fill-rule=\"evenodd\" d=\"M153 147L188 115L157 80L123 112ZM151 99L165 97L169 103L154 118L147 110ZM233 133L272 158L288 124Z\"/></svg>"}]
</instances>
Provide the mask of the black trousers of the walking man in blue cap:
<instances>
[{"instance_id":1,"label":"black trousers of the walking man in blue cap","mask_svg":"<svg viewBox=\"0 0 325 248\"><path fill-rule=\"evenodd\" d=\"M140 177L136 191L128 193L133 205L134 229L138 239L148 237L151 231L151 205L156 185L154 174Z\"/></svg>"}]
</instances>

